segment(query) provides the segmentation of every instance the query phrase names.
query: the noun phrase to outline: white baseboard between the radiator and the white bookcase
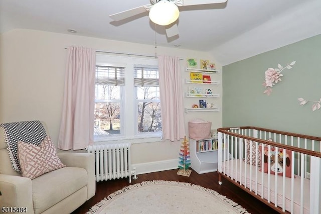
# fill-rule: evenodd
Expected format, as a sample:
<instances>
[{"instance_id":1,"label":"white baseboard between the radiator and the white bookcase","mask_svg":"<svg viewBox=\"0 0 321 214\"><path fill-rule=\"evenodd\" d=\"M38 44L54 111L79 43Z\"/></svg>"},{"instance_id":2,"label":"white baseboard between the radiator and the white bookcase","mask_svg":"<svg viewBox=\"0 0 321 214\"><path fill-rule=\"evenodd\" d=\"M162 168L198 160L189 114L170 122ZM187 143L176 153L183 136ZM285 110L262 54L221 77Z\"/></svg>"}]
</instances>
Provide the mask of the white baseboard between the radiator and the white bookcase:
<instances>
[{"instance_id":1,"label":"white baseboard between the radiator and the white bookcase","mask_svg":"<svg viewBox=\"0 0 321 214\"><path fill-rule=\"evenodd\" d=\"M136 174L145 174L150 172L159 172L170 169L178 169L178 159L165 160L165 161L155 161L149 163L138 163L132 164L131 169L136 167Z\"/></svg>"}]
</instances>

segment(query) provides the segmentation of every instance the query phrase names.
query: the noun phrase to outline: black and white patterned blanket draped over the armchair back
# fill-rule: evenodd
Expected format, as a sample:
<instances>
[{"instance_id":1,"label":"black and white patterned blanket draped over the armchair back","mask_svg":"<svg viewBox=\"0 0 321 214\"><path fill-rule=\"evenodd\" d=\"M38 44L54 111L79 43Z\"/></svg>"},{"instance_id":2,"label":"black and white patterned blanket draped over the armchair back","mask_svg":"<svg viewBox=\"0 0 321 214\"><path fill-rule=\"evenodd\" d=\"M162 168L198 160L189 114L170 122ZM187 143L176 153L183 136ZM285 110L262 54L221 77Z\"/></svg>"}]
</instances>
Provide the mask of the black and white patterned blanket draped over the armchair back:
<instances>
[{"instance_id":1,"label":"black and white patterned blanket draped over the armchair back","mask_svg":"<svg viewBox=\"0 0 321 214\"><path fill-rule=\"evenodd\" d=\"M18 142L23 141L39 146L47 136L46 130L40 121L22 121L0 124L4 130L5 141L13 169L21 173L18 159Z\"/></svg>"}]
</instances>

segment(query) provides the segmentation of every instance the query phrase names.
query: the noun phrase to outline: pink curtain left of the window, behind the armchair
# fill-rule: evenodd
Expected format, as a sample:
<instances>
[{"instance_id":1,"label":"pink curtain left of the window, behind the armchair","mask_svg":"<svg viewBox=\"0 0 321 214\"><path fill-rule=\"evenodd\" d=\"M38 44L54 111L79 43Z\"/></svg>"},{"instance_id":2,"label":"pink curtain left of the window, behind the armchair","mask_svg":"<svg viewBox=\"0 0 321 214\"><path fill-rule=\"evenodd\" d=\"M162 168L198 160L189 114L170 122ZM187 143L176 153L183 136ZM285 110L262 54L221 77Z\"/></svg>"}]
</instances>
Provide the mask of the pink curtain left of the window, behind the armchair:
<instances>
[{"instance_id":1,"label":"pink curtain left of the window, behind the armchair","mask_svg":"<svg viewBox=\"0 0 321 214\"><path fill-rule=\"evenodd\" d=\"M96 51L68 48L58 148L85 149L93 144Z\"/></svg>"}]
</instances>

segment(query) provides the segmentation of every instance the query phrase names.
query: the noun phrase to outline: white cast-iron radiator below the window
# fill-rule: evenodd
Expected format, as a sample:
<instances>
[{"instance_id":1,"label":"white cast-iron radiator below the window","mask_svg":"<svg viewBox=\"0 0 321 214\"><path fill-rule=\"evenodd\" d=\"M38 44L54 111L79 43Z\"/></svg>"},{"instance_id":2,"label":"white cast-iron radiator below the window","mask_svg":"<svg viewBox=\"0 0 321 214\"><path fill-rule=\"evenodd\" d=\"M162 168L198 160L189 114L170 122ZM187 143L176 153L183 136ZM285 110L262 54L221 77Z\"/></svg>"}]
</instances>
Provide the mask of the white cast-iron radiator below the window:
<instances>
[{"instance_id":1,"label":"white cast-iron radiator below the window","mask_svg":"<svg viewBox=\"0 0 321 214\"><path fill-rule=\"evenodd\" d=\"M88 146L87 152L95 155L96 181L129 177L131 183L130 143Z\"/></svg>"}]
</instances>

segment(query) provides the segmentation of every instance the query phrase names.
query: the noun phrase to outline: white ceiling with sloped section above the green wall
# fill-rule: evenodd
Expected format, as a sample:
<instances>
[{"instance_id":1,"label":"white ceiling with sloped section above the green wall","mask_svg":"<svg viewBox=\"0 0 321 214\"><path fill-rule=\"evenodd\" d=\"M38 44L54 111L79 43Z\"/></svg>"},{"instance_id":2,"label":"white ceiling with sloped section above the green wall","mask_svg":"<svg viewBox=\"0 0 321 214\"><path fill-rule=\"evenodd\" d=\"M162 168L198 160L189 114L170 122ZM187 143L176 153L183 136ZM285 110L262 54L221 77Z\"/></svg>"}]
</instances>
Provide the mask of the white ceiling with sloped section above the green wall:
<instances>
[{"instance_id":1,"label":"white ceiling with sloped section above the green wall","mask_svg":"<svg viewBox=\"0 0 321 214\"><path fill-rule=\"evenodd\" d=\"M198 0L195 0L198 1ZM228 0L180 10L179 37L167 38L147 12L113 22L109 15L149 0L0 0L0 34L16 28L212 53L226 65L321 34L321 0Z\"/></svg>"}]
</instances>

